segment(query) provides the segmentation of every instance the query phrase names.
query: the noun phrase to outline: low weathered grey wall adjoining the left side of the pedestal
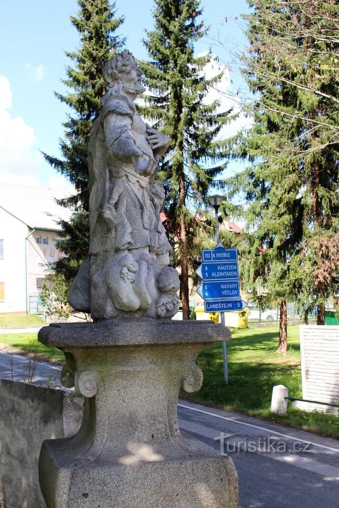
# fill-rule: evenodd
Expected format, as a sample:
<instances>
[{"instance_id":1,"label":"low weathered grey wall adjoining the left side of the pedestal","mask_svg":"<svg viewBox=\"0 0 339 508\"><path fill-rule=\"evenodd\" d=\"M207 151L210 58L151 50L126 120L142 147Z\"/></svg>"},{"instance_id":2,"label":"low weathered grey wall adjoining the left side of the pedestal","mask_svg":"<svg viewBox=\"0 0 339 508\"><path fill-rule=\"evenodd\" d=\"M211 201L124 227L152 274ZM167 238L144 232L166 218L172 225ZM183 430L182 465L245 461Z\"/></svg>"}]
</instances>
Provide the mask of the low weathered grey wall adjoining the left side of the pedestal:
<instances>
[{"instance_id":1,"label":"low weathered grey wall adjoining the left side of the pedestal","mask_svg":"<svg viewBox=\"0 0 339 508\"><path fill-rule=\"evenodd\" d=\"M82 401L75 394L0 379L0 500L6 508L46 508L38 460L44 439L77 432Z\"/></svg>"}]
</instances>

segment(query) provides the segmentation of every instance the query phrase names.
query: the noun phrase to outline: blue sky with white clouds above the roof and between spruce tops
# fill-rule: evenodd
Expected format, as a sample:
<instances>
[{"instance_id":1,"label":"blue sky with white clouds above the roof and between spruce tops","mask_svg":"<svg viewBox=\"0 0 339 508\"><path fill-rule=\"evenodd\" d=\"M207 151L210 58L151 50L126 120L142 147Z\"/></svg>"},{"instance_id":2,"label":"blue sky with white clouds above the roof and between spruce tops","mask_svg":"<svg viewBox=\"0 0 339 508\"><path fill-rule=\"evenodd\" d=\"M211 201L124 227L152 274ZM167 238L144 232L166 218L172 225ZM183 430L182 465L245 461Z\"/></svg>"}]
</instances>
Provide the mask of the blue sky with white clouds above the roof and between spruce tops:
<instances>
[{"instance_id":1,"label":"blue sky with white clouds above the roof and between spruce tops","mask_svg":"<svg viewBox=\"0 0 339 508\"><path fill-rule=\"evenodd\" d=\"M239 19L248 12L246 0L230 2L205 0L202 19L210 25L210 37L196 45L196 52L209 49L230 66L233 87L241 85L232 55L219 44L220 38L231 52L246 45ZM136 58L146 59L141 40L144 29L152 28L151 0L117 0L118 15L125 16L121 36ZM51 186L57 194L68 185L44 162L40 150L59 155L58 139L63 137L62 122L67 109L54 96L64 92L68 58L65 50L79 45L69 16L78 10L76 0L16 0L2 2L0 17L0 178L27 184ZM227 21L226 19L227 18ZM236 170L231 165L229 171Z\"/></svg>"}]
</instances>

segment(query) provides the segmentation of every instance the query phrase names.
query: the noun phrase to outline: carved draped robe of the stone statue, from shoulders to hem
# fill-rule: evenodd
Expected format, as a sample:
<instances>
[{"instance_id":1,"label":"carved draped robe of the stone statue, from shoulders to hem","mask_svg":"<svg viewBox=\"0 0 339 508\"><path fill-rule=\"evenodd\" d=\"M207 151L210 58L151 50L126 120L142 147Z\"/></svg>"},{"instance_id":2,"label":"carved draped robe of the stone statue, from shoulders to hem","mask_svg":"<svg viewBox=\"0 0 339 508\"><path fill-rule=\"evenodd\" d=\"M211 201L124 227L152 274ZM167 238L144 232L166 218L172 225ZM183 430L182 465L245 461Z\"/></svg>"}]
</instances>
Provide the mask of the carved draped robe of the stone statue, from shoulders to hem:
<instances>
[{"instance_id":1,"label":"carved draped robe of the stone statue, from shoulders to hem","mask_svg":"<svg viewBox=\"0 0 339 508\"><path fill-rule=\"evenodd\" d=\"M148 247L149 253L163 255L171 250L159 214L165 197L163 186L156 181L149 184L150 177L137 173L132 160L122 160L114 153L115 141L128 138L141 149L145 160L153 159L146 125L122 94L108 91L102 104L88 145L91 254ZM110 147L105 135L107 115L116 119ZM109 240L110 230L114 230L113 240Z\"/></svg>"}]
</instances>

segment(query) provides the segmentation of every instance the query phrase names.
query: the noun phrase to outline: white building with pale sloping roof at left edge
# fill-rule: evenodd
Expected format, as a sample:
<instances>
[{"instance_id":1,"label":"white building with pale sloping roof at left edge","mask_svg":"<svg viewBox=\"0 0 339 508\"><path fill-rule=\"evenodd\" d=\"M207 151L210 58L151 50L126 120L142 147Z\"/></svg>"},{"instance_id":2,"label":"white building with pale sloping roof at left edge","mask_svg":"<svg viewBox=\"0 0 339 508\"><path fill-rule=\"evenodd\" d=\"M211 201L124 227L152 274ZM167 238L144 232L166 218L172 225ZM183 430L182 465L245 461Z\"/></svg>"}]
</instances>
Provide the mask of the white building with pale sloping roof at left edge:
<instances>
[{"instance_id":1,"label":"white building with pale sloping roof at left edge","mask_svg":"<svg viewBox=\"0 0 339 508\"><path fill-rule=\"evenodd\" d=\"M0 313L37 311L50 263L64 256L57 221L69 215L52 189L0 183Z\"/></svg>"}]
</instances>

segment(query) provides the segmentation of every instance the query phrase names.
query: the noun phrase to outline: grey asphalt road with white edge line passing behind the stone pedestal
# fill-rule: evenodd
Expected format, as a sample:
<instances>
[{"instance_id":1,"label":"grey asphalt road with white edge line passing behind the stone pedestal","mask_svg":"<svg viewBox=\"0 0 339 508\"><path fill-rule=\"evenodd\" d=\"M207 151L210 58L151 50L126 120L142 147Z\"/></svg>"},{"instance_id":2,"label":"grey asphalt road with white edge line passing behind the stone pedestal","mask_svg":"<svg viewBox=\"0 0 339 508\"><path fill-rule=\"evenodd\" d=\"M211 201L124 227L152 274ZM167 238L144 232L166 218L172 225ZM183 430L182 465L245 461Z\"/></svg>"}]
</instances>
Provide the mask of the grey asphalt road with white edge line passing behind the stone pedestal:
<instances>
[{"instance_id":1,"label":"grey asphalt road with white edge line passing behind the stone pedestal","mask_svg":"<svg viewBox=\"0 0 339 508\"><path fill-rule=\"evenodd\" d=\"M27 360L12 358L13 378L27 378ZM59 370L39 363L35 384L59 384ZM0 376L12 377L4 352ZM231 456L239 476L239 508L338 508L338 441L182 400L178 419L182 431Z\"/></svg>"}]
</instances>

